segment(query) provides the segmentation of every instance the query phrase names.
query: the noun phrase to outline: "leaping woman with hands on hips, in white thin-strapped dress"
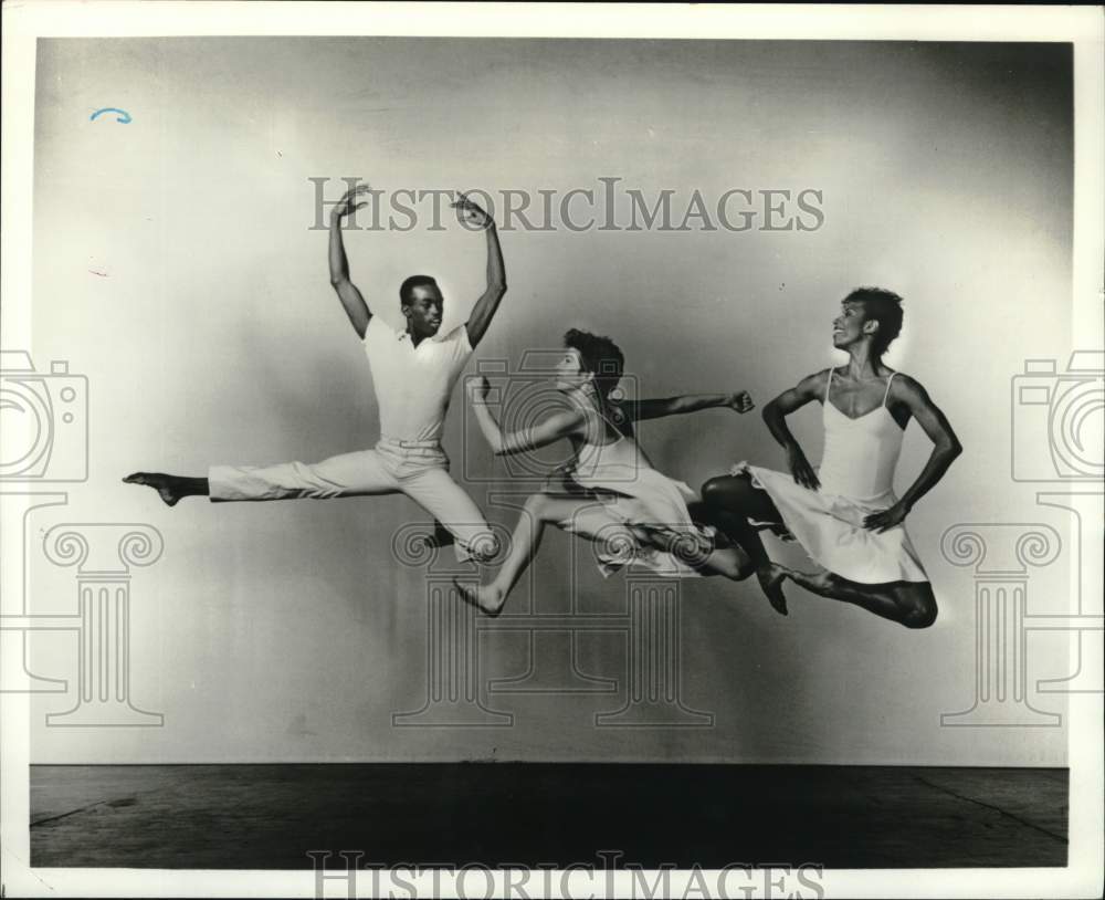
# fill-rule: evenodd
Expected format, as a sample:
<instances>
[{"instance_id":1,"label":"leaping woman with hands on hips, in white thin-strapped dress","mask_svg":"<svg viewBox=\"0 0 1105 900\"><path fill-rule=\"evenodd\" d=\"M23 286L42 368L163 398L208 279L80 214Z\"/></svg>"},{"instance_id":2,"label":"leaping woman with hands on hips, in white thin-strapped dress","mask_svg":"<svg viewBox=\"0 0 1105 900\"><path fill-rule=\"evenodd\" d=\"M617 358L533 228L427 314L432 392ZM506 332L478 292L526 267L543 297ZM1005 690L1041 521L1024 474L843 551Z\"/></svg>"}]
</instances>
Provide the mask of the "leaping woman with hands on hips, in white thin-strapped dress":
<instances>
[{"instance_id":1,"label":"leaping woman with hands on hips, in white thin-strapped dress","mask_svg":"<svg viewBox=\"0 0 1105 900\"><path fill-rule=\"evenodd\" d=\"M962 448L925 388L883 365L882 356L901 329L897 294L877 287L850 293L833 322L833 346L848 352L848 365L803 378L764 408L790 472L740 463L730 475L703 485L711 522L748 553L768 599L782 615L781 585L790 578L818 596L855 604L909 628L936 620L936 598L903 521ZM817 472L786 422L812 401L823 406L825 429ZM894 470L911 419L933 441L933 452L898 499ZM796 572L772 563L759 526L785 530L820 569Z\"/></svg>"}]
</instances>

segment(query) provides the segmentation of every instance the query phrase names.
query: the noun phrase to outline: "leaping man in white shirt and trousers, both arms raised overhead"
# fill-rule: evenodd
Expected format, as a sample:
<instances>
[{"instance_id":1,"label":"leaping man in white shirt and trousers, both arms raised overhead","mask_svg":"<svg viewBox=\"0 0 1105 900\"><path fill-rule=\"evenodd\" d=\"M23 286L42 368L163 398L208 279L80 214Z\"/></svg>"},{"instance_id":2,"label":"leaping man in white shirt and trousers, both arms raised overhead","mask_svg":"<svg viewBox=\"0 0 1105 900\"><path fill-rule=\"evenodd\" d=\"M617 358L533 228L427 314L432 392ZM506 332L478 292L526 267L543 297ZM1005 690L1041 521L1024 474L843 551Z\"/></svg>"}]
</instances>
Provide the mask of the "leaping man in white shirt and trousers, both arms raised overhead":
<instances>
[{"instance_id":1,"label":"leaping man in white shirt and trousers, both arms raised overhead","mask_svg":"<svg viewBox=\"0 0 1105 900\"><path fill-rule=\"evenodd\" d=\"M343 222L367 205L359 198L368 189L360 185L347 191L332 210L329 266L330 283L368 355L380 410L376 448L314 464L212 465L207 478L135 472L124 481L156 489L170 506L196 495L231 501L404 493L443 524L460 559L486 561L498 553L497 541L480 507L450 478L440 440L453 386L506 293L495 222L463 193L452 203L487 239L487 289L469 321L439 335L444 299L438 283L429 275L411 275L399 289L407 327L394 332L371 313L349 280L341 242Z\"/></svg>"}]
</instances>

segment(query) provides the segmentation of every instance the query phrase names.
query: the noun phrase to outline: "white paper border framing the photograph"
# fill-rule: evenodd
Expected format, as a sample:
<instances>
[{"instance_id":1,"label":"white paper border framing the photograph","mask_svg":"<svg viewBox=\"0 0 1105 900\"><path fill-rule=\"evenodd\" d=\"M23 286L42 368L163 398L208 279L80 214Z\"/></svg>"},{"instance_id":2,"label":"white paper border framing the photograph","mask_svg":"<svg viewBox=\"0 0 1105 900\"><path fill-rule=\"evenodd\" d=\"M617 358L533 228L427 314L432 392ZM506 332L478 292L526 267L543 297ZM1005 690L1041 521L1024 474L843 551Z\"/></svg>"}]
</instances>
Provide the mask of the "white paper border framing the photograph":
<instances>
[{"instance_id":1,"label":"white paper border framing the photograph","mask_svg":"<svg viewBox=\"0 0 1105 900\"><path fill-rule=\"evenodd\" d=\"M62 36L406 35L664 38L827 41L1070 42L1074 46L1073 328L1080 346L1105 345L1105 15L1097 7L713 6L624 3L70 2L3 7L2 333L29 346L35 41ZM3 554L18 551L6 541ZM1101 558L1090 561L1101 566ZM1075 578L1078 573L1073 573ZM1072 632L1072 646L1076 635ZM1098 897L1103 879L1102 694L1070 699L1070 857L1066 868L827 870L828 897ZM0 694L2 868L9 896L314 897L309 869L198 871L31 869L29 698ZM578 877L577 877L578 876ZM628 872L613 877L629 888ZM708 877L708 873L707 873ZM428 878L412 879L429 890ZM499 873L502 883L502 873ZM601 885L576 873L587 896ZM451 896L450 879L441 896ZM673 890L686 881L673 878ZM369 888L365 879L362 890ZM344 896L341 882L327 894ZM692 887L693 891L694 888ZM367 894L366 894L367 896ZM452 894L455 896L455 894ZM623 894L624 896L624 894Z\"/></svg>"}]
</instances>

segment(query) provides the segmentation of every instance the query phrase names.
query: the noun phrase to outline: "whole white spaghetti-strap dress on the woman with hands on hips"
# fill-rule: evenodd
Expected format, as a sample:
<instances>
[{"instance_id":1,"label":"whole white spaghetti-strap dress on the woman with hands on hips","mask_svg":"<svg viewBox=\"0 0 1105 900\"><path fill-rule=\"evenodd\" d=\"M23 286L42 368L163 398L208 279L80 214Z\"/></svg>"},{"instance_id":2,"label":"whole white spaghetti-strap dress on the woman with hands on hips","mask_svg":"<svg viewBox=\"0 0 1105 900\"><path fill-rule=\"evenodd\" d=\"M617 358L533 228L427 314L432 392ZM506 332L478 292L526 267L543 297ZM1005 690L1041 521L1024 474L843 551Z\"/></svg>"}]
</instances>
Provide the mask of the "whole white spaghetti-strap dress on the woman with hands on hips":
<instances>
[{"instance_id":1,"label":"whole white spaghetti-strap dress on the woman with hands on hips","mask_svg":"<svg viewBox=\"0 0 1105 900\"><path fill-rule=\"evenodd\" d=\"M905 430L886 408L894 373L876 409L851 418L829 401L832 369L825 385L822 418L824 453L818 469L821 489L794 482L789 472L738 463L733 474L747 473L766 491L782 515L783 525L809 554L829 572L859 584L927 582L905 526L878 533L863 520L897 502L894 470Z\"/></svg>"}]
</instances>

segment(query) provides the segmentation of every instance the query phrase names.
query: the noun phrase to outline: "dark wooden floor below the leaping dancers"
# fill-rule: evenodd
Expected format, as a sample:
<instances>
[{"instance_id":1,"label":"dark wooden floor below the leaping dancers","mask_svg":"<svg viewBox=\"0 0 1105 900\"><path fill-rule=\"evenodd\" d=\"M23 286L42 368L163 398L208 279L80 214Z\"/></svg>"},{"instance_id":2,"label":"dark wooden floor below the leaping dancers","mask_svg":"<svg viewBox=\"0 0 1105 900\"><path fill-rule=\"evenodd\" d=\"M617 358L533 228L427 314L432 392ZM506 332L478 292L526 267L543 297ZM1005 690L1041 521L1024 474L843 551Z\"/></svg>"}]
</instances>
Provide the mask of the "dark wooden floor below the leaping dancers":
<instances>
[{"instance_id":1,"label":"dark wooden floor below the leaping dancers","mask_svg":"<svg viewBox=\"0 0 1105 900\"><path fill-rule=\"evenodd\" d=\"M31 864L1063 866L1067 771L740 765L32 766Z\"/></svg>"}]
</instances>

